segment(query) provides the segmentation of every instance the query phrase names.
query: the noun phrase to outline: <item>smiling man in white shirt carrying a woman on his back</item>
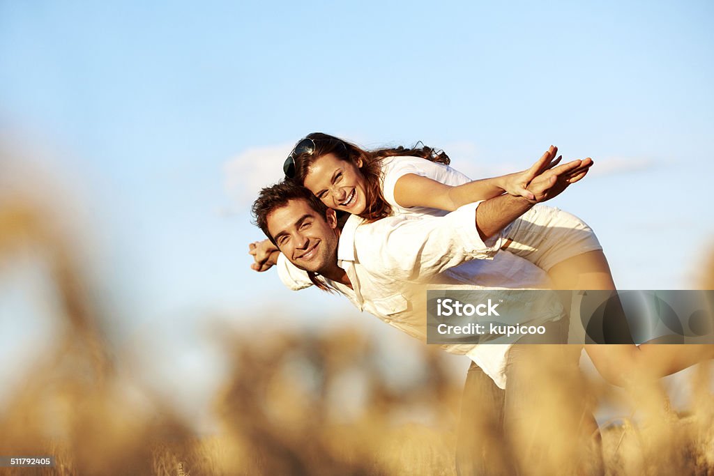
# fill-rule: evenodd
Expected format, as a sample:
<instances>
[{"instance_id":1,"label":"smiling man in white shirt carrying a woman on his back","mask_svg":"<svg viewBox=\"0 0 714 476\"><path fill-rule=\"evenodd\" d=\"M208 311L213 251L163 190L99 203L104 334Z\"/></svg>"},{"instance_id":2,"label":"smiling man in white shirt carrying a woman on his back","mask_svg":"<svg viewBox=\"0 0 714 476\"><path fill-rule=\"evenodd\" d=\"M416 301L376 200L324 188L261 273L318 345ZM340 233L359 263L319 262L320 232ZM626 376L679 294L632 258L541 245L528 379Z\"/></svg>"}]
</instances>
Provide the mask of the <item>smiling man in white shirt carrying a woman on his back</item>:
<instances>
[{"instance_id":1,"label":"smiling man in white shirt carrying a woman on his back","mask_svg":"<svg viewBox=\"0 0 714 476\"><path fill-rule=\"evenodd\" d=\"M461 207L443 217L388 217L373 223L363 223L361 218L351 216L340 230L334 211L326 209L309 191L291 183L279 183L263 189L253 205L253 214L256 224L266 236L291 263L308 271L313 283L323 289L337 290L360 310L366 310L409 335L423 339L426 338L426 319L423 313L418 312L416 305L425 294L421 285L459 283L458 278L450 275L448 270L472 260L491 260L501 248L501 230L536 202L545 201L564 191L573 178L568 176L568 172L577 170L578 166L580 161L573 161L535 178L529 187L536 197L535 201L500 196ZM496 261L496 269L489 272L493 275L501 274L502 287L547 285L545 274L526 260L501 252ZM511 279L508 282L506 276L523 275L518 273L519 269L531 278ZM505 270L507 272L502 273ZM516 273L513 273L514 270ZM478 273L479 270L471 272ZM533 276L536 278L533 279ZM560 315L553 315L550 320L558 318ZM548 326L550 333L562 331L560 323L549 323ZM508 373L518 375L514 370L518 365L509 362L507 358L510 348L510 345L446 346L450 352L466 353L501 388L505 386ZM528 352L520 355L522 359L529 358ZM527 376L521 375L520 378ZM478 414L493 416L498 420L496 415L502 412L504 403L501 391L478 368L469 372L468 380L467 388L475 387L481 395L493 395L493 411L483 412L482 407ZM506 406L513 407L511 413L516 415L515 409L520 406L519 398L526 398L527 392L523 391L523 384L514 382L513 385L521 388L520 395L511 397L510 402L507 398ZM464 400L466 407L467 403L473 404L475 399L465 397ZM468 410L462 412L474 413ZM506 408L506 417L508 414ZM468 431L461 433L468 434ZM463 441L463 438L460 440ZM471 442L462 453L470 451L470 448L473 448ZM461 472L465 465L464 458L460 459ZM478 460L483 461L483 458ZM491 460L490 463L492 466L489 472L498 472L493 467L496 462ZM508 461L502 461L501 468L505 473L511 471ZM473 468L466 471L471 470Z\"/></svg>"}]
</instances>

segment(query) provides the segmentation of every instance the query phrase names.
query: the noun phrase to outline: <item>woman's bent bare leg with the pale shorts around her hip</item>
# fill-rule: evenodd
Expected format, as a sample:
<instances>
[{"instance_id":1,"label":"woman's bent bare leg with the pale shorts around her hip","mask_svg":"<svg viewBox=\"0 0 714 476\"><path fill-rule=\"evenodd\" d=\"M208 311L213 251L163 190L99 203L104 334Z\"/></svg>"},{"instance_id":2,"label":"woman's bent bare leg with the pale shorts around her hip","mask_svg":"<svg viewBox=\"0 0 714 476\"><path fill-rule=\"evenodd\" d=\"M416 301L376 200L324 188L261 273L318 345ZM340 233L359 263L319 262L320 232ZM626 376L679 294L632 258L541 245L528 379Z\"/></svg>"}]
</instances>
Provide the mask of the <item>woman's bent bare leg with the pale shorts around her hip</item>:
<instances>
[{"instance_id":1,"label":"woman's bent bare leg with the pale shorts around her hip","mask_svg":"<svg viewBox=\"0 0 714 476\"><path fill-rule=\"evenodd\" d=\"M608 260L593 230L580 218L547 206L534 206L506 228L504 248L548 272L554 289L615 290ZM566 310L568 296L563 294ZM613 345L586 345L588 355L611 383L660 378L700 360L714 358L713 345L633 345L618 298L604 316L603 333Z\"/></svg>"}]
</instances>

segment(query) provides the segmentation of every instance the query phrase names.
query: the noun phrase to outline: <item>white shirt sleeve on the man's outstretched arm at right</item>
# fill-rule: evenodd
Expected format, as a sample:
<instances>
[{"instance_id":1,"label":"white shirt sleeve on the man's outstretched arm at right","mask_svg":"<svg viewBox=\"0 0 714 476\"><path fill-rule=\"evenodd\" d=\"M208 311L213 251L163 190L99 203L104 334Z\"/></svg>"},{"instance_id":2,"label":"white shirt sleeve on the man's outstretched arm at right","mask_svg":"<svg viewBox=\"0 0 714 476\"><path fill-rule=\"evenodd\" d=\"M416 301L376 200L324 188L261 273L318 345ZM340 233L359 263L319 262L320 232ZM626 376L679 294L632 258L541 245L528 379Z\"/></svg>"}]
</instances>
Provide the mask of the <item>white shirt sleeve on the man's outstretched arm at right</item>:
<instances>
[{"instance_id":1,"label":"white shirt sleeve on the man's outstretched arm at right","mask_svg":"<svg viewBox=\"0 0 714 476\"><path fill-rule=\"evenodd\" d=\"M431 280L448 268L473 259L493 259L503 236L484 241L476 230L476 209L469 203L442 217L396 217L358 227L358 260L388 279ZM368 244L366 244L368 243Z\"/></svg>"}]
</instances>

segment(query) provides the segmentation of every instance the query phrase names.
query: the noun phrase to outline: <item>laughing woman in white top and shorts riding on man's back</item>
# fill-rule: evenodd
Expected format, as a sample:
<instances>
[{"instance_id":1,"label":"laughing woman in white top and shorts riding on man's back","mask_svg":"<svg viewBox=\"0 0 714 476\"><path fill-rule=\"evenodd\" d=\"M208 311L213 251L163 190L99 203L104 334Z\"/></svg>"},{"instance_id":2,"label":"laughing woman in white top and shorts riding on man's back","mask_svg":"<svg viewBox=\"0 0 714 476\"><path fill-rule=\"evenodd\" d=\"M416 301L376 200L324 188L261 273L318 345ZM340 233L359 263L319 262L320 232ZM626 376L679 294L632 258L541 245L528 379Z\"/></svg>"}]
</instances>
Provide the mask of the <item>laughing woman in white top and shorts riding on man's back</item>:
<instances>
[{"instance_id":1,"label":"laughing woman in white top and shorts riding on man's back","mask_svg":"<svg viewBox=\"0 0 714 476\"><path fill-rule=\"evenodd\" d=\"M449 211L503 193L532 199L528 183L555 166L557 148L551 146L526 171L471 181L448 166L443 151L426 146L367 151L340 138L311 133L297 143L283 171L287 178L306 186L338 211L367 221L398 215L442 216ZM568 186L588 173L590 158L563 177ZM507 227L502 249L525 258L545 270L554 289L615 290L610 268L592 229L579 218L557 208L534 206ZM267 240L266 240L267 241ZM251 243L256 259L252 267L265 270L276 263L277 250L269 242ZM289 263L287 263L289 265ZM301 271L288 273L293 288L310 285ZM284 274L281 276L284 279ZM618 334L629 337L624 313L616 310L611 321ZM631 341L630 341L631 342ZM677 372L703 358L711 358L713 346L586 345L598 371L610 382L622 384L626 375L658 378Z\"/></svg>"}]
</instances>

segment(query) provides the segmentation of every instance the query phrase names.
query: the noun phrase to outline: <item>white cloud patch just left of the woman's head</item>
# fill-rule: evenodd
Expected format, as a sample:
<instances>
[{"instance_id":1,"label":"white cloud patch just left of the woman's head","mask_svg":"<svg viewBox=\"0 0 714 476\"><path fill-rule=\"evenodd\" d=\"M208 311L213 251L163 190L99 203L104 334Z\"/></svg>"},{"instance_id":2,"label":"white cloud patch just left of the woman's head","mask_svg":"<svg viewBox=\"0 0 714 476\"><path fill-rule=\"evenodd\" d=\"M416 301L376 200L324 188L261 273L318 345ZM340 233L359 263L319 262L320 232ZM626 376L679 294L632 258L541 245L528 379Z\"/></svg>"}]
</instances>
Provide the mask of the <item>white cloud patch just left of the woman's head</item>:
<instances>
[{"instance_id":1,"label":"white cloud patch just left of the woman's head","mask_svg":"<svg viewBox=\"0 0 714 476\"><path fill-rule=\"evenodd\" d=\"M248 148L223 165L226 193L236 206L250 206L261 188L283 178L290 144Z\"/></svg>"}]
</instances>

